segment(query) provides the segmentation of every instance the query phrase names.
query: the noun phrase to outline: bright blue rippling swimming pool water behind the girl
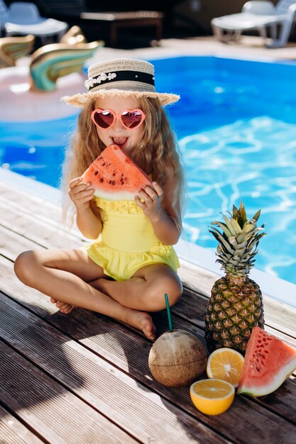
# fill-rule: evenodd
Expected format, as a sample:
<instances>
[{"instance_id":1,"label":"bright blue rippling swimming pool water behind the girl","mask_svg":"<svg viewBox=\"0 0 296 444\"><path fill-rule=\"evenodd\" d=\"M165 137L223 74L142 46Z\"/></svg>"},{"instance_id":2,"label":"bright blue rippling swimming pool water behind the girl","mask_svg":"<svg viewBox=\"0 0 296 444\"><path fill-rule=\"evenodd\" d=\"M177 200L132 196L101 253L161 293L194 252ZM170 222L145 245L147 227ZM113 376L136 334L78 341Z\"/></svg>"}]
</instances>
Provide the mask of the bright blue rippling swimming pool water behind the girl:
<instances>
[{"instance_id":1,"label":"bright blue rippling swimming pool water behind the girl","mask_svg":"<svg viewBox=\"0 0 296 444\"><path fill-rule=\"evenodd\" d=\"M261 209L266 235L256 267L296 284L296 65L219 57L153 61L187 175L183 238L216 248L221 211ZM76 117L0 122L0 165L57 187Z\"/></svg>"}]
</instances>

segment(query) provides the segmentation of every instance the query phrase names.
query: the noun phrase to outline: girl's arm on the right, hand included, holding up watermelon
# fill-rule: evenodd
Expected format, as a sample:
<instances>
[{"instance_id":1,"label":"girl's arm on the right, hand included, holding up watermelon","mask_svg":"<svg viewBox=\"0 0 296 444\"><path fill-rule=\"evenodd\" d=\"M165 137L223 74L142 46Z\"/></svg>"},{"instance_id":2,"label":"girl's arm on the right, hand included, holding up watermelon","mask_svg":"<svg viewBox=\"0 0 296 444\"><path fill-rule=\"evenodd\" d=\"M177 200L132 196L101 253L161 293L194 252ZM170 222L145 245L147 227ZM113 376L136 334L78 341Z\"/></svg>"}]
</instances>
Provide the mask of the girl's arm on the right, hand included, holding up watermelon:
<instances>
[{"instance_id":1,"label":"girl's arm on the right, hand included, holding up watermelon","mask_svg":"<svg viewBox=\"0 0 296 444\"><path fill-rule=\"evenodd\" d=\"M166 245L177 243L182 231L182 218L178 190L173 177L168 179L163 189L157 182L153 182L153 187L139 190L135 201L150 218L155 236L160 242Z\"/></svg>"}]
</instances>

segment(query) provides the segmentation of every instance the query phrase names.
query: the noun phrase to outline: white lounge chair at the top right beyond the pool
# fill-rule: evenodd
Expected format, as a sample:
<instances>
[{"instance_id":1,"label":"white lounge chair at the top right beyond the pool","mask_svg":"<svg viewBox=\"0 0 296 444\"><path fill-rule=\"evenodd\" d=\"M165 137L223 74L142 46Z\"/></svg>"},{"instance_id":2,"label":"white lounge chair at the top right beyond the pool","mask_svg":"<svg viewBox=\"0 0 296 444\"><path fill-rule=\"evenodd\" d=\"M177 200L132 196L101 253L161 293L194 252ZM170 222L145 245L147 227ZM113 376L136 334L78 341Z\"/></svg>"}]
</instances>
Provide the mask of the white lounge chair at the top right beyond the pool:
<instances>
[{"instance_id":1,"label":"white lounge chair at the top right beyond the pool","mask_svg":"<svg viewBox=\"0 0 296 444\"><path fill-rule=\"evenodd\" d=\"M296 20L295 11L295 0L280 0L276 5L271 1L251 0L243 5L241 13L213 18L211 25L214 35L219 40L229 38L229 35L238 38L245 30L258 30L266 39L267 30L270 28L272 42L268 48L280 48L287 44L292 25Z\"/></svg>"}]
</instances>

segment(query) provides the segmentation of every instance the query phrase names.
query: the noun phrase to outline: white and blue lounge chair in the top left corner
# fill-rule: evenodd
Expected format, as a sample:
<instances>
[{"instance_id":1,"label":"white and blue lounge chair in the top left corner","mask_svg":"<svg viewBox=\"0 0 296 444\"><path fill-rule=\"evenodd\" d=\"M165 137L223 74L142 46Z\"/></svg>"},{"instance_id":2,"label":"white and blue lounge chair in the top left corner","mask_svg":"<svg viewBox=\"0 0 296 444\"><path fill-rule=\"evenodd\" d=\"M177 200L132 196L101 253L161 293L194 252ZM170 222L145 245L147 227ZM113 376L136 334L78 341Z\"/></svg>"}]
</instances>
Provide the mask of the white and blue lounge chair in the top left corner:
<instances>
[{"instance_id":1,"label":"white and blue lounge chair in the top left corner","mask_svg":"<svg viewBox=\"0 0 296 444\"><path fill-rule=\"evenodd\" d=\"M54 18L41 17L33 3L15 1L8 8L0 0L0 28L6 36L32 34L45 43L45 38L52 35L57 35L57 39L60 39L68 25Z\"/></svg>"}]
</instances>

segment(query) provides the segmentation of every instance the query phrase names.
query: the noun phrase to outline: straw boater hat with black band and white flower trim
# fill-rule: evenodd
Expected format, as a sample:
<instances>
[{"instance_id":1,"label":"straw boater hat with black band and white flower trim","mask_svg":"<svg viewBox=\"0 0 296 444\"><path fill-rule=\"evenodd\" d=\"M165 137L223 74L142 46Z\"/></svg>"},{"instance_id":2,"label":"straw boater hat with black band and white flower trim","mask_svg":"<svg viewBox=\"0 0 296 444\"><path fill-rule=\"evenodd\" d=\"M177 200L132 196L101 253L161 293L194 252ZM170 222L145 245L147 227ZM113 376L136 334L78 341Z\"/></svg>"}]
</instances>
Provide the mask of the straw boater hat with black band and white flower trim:
<instances>
[{"instance_id":1,"label":"straw boater hat with black band and white flower trim","mask_svg":"<svg viewBox=\"0 0 296 444\"><path fill-rule=\"evenodd\" d=\"M159 99L165 106L180 99L177 94L155 91L154 66L144 60L122 58L94 63L89 66L84 84L88 92L64 96L62 100L73 106L83 106L97 97L145 96Z\"/></svg>"}]
</instances>

